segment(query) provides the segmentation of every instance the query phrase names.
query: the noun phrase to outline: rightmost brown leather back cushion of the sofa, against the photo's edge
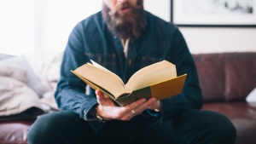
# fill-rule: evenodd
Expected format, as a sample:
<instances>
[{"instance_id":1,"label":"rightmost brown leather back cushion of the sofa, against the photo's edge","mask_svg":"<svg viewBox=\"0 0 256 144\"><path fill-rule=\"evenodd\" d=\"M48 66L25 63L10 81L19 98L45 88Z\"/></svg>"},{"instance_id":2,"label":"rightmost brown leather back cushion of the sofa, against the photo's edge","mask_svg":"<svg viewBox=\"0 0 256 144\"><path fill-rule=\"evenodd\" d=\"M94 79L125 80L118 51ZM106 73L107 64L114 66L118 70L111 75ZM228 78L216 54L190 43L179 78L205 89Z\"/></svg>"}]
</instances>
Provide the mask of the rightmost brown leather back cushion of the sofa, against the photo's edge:
<instances>
[{"instance_id":1,"label":"rightmost brown leather back cushion of the sofa, against the photo's edge","mask_svg":"<svg viewBox=\"0 0 256 144\"><path fill-rule=\"evenodd\" d=\"M224 53L226 101L245 100L256 87L256 53Z\"/></svg>"}]
</instances>

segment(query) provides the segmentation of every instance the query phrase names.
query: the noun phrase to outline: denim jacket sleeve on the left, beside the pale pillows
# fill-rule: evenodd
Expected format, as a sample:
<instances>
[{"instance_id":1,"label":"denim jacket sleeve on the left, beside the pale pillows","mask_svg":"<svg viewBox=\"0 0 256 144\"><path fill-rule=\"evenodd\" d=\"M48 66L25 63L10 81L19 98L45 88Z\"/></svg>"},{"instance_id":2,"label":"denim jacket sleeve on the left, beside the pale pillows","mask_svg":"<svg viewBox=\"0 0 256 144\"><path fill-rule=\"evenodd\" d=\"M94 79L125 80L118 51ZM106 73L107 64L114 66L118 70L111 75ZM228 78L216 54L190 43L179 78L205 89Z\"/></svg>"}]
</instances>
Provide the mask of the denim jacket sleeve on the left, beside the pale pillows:
<instances>
[{"instance_id":1,"label":"denim jacket sleeve on the left, beside the pale pillows","mask_svg":"<svg viewBox=\"0 0 256 144\"><path fill-rule=\"evenodd\" d=\"M55 100L61 110L78 113L80 118L84 118L94 130L98 131L103 123L91 121L93 118L88 114L90 109L97 104L96 95L92 90L86 91L86 84L70 72L89 61L84 55L83 31L83 26L79 23L68 38L61 62L61 74L55 91Z\"/></svg>"}]
</instances>

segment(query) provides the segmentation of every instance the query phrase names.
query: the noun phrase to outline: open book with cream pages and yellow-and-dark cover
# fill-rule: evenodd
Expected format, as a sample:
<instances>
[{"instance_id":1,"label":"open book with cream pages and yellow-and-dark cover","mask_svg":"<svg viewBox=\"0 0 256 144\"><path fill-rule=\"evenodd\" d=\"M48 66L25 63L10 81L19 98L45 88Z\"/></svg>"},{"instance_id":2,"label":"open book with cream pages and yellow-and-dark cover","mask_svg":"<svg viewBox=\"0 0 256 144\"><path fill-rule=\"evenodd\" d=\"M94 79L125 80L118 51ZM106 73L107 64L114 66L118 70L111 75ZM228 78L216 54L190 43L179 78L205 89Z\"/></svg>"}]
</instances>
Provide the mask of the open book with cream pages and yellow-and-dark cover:
<instances>
[{"instance_id":1,"label":"open book with cream pages and yellow-and-dark cover","mask_svg":"<svg viewBox=\"0 0 256 144\"><path fill-rule=\"evenodd\" d=\"M135 72L124 84L121 78L91 60L71 70L92 89L100 89L119 106L125 106L140 98L155 97L157 100L178 95L183 90L187 74L177 77L176 66L162 60Z\"/></svg>"}]
</instances>

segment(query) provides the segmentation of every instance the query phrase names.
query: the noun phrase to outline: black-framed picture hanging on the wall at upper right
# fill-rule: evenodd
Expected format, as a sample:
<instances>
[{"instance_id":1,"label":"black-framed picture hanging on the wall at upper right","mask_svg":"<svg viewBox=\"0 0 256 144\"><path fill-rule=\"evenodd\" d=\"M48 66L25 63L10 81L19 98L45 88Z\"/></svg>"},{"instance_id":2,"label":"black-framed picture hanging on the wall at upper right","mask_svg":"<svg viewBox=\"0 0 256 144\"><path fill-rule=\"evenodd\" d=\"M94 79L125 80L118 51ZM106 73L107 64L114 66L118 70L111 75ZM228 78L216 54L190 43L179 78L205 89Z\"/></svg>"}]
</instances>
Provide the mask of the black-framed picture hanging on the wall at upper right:
<instances>
[{"instance_id":1,"label":"black-framed picture hanging on the wall at upper right","mask_svg":"<svg viewBox=\"0 0 256 144\"><path fill-rule=\"evenodd\" d=\"M256 0L171 0L177 26L256 27Z\"/></svg>"}]
</instances>

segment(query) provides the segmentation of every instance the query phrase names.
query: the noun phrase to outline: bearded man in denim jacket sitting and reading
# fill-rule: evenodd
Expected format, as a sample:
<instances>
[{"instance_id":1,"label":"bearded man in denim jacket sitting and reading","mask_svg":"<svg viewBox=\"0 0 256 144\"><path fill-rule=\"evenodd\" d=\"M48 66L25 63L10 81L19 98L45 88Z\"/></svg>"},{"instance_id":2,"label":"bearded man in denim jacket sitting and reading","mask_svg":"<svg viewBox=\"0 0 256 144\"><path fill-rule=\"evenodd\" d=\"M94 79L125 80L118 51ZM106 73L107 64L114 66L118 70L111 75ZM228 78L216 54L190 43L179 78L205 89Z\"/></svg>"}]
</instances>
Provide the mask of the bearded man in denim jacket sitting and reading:
<instances>
[{"instance_id":1,"label":"bearded man in denim jacket sitting and reading","mask_svg":"<svg viewBox=\"0 0 256 144\"><path fill-rule=\"evenodd\" d=\"M124 82L160 60L187 73L183 92L156 101L117 106L70 70L95 60ZM236 130L228 118L199 110L201 89L187 44L177 27L143 10L143 0L103 0L102 12L79 22L71 33L55 92L61 108L41 116L29 130L32 143L211 143L231 144Z\"/></svg>"}]
</instances>

